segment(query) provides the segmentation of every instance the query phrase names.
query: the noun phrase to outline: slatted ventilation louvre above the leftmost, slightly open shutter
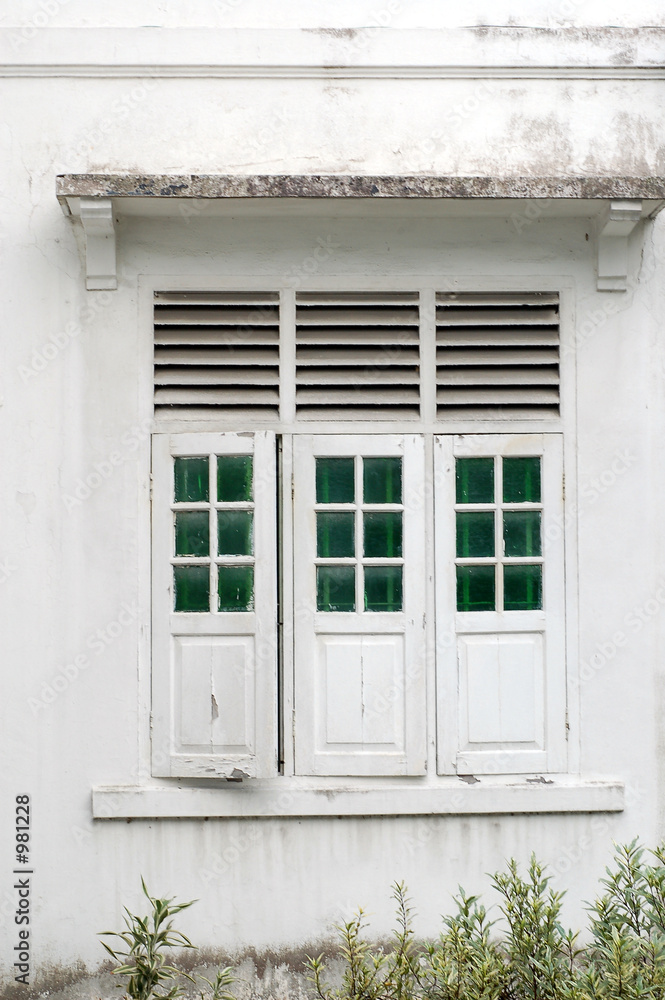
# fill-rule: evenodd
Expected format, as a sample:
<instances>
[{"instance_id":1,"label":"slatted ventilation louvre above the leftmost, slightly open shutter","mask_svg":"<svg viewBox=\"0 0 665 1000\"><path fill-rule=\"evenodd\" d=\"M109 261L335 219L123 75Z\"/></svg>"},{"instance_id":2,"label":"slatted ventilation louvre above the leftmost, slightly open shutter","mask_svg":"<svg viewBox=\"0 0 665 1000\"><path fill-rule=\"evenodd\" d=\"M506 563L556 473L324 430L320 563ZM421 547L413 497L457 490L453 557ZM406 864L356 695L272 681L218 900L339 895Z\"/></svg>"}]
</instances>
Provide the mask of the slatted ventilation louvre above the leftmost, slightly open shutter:
<instances>
[{"instance_id":1,"label":"slatted ventilation louvre above the leftmost, slightly open shutter","mask_svg":"<svg viewBox=\"0 0 665 1000\"><path fill-rule=\"evenodd\" d=\"M279 414L279 294L155 293L155 414Z\"/></svg>"}]
</instances>

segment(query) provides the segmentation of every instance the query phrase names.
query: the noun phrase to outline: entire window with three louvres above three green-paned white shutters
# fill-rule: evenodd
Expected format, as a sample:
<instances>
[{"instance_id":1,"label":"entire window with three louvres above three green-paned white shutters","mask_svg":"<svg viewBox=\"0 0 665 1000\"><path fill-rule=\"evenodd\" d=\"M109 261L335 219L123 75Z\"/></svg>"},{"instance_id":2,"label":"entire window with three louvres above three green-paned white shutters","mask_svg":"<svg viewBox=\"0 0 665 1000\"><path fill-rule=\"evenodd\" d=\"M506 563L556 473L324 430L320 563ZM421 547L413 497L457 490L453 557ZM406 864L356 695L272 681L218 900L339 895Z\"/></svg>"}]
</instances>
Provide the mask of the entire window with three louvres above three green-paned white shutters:
<instances>
[{"instance_id":1,"label":"entire window with three louvres above three green-paned white shutters","mask_svg":"<svg viewBox=\"0 0 665 1000\"><path fill-rule=\"evenodd\" d=\"M550 293L155 295L155 774L565 771L558 324Z\"/></svg>"}]
</instances>

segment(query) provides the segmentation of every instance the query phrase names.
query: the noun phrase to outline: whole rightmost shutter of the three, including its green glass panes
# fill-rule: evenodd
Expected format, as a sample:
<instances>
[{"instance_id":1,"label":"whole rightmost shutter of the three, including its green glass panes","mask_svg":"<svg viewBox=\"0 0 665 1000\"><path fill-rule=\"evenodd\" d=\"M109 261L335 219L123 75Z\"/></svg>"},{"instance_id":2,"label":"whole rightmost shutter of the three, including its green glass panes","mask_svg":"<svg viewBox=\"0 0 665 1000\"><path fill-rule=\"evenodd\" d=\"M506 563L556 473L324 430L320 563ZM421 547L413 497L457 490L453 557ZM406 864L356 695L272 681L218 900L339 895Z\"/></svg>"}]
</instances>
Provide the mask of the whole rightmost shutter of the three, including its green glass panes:
<instances>
[{"instance_id":1,"label":"whole rightmost shutter of the three, including its green glass panes","mask_svg":"<svg viewBox=\"0 0 665 1000\"><path fill-rule=\"evenodd\" d=\"M537 459L540 502L504 494L501 476L512 459ZM494 501L456 496L456 461L493 463ZM437 715L440 774L519 774L566 769L566 665L563 546L563 450L559 435L465 435L435 438ZM514 469L515 466L513 465ZM508 476L508 473L505 473ZM488 487L489 489L489 487ZM493 508L490 512L490 508ZM464 523L493 518L496 558L467 550ZM536 521L540 521L538 526ZM474 525L475 544L482 531ZM529 527L530 525L530 527ZM525 539L531 531L527 544ZM456 533L462 536L457 540ZM534 538L540 546L534 545ZM490 543L487 543L490 544ZM533 555L516 553L531 552ZM541 556L536 553L540 551ZM470 553L470 554L469 554ZM456 567L457 563L457 567ZM485 565L482 565L485 563ZM489 565L488 565L489 564ZM498 569L497 569L498 564ZM515 601L515 573L542 565L542 599L531 609ZM455 610L469 599L457 568L492 574L495 610ZM489 568L491 566L491 569ZM513 574L509 584L508 573ZM535 570L537 572L537 570ZM518 595L519 597L520 595ZM516 602L516 604L519 601ZM535 605L540 604L540 607ZM468 605L467 605L468 607Z\"/></svg>"}]
</instances>

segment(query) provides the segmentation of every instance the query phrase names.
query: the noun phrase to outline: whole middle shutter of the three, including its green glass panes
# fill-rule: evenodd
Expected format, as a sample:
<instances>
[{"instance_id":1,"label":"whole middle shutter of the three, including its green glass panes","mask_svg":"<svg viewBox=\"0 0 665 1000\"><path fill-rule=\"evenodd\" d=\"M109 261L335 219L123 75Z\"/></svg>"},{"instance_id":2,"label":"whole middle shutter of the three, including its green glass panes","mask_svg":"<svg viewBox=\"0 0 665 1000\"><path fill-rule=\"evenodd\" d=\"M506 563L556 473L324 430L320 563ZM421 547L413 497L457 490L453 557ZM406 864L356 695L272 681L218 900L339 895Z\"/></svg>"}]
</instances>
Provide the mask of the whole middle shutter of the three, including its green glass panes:
<instances>
[{"instance_id":1,"label":"whole middle shutter of the three, including its green glass panes","mask_svg":"<svg viewBox=\"0 0 665 1000\"><path fill-rule=\"evenodd\" d=\"M293 447L296 773L424 774L424 522L409 496L423 440L298 436ZM325 493L330 459L346 463L346 492Z\"/></svg>"}]
</instances>

